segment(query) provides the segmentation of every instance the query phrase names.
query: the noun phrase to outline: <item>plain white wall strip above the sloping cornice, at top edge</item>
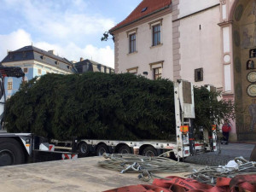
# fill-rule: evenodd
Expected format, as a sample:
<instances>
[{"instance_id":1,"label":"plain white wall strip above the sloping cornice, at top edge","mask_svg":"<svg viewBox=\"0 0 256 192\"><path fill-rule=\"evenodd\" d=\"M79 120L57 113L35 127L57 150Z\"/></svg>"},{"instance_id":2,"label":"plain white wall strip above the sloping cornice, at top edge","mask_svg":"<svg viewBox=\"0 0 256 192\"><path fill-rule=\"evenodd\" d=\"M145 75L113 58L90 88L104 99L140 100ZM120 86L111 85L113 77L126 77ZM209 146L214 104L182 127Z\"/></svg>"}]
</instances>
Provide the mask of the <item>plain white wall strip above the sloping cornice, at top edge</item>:
<instances>
[{"instance_id":1,"label":"plain white wall strip above the sloping cornice, at top edge","mask_svg":"<svg viewBox=\"0 0 256 192\"><path fill-rule=\"evenodd\" d=\"M179 0L179 16L181 18L186 15L193 14L197 11L207 9L219 3L219 0Z\"/></svg>"}]
</instances>

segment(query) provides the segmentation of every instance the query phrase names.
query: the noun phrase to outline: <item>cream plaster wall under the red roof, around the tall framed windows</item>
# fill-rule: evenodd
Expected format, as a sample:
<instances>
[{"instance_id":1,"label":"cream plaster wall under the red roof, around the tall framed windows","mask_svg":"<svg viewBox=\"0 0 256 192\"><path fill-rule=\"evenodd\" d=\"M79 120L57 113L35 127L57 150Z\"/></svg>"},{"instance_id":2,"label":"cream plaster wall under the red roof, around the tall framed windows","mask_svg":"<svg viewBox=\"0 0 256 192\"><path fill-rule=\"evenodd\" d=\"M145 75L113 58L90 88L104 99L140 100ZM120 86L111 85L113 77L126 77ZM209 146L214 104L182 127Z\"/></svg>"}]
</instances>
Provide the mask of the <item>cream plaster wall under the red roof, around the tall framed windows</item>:
<instances>
[{"instance_id":1,"label":"cream plaster wall under the red roof, around the tall framed windows","mask_svg":"<svg viewBox=\"0 0 256 192\"><path fill-rule=\"evenodd\" d=\"M154 20L162 20L161 26L161 45L152 47L152 29L148 23ZM148 79L153 79L153 70L150 70L149 63L164 61L162 77L172 79L172 14L164 15L145 22L137 27L137 53L129 53L129 38L127 38L127 30L119 33L118 42L118 61L119 73L126 73L127 69L137 68L137 74L148 72Z\"/></svg>"}]
</instances>

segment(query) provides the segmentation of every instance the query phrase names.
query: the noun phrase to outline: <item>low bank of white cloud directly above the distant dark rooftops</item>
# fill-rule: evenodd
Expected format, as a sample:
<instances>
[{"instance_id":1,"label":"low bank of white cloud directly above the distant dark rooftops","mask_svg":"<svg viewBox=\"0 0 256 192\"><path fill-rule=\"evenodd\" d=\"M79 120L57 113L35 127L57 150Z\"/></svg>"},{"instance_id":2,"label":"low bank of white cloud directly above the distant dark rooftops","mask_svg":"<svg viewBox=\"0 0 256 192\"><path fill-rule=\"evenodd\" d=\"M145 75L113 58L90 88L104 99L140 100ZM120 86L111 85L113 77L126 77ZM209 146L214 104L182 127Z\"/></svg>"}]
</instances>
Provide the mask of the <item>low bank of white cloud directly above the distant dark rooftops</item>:
<instances>
[{"instance_id":1,"label":"low bank of white cloud directly above the distant dark rooftops","mask_svg":"<svg viewBox=\"0 0 256 192\"><path fill-rule=\"evenodd\" d=\"M0 61L7 55L7 49L20 49L26 45L32 44L31 35L22 29L12 32L8 35L0 35ZM80 48L77 44L69 42L62 46L61 44L49 44L47 42L33 42L33 45L39 49L55 49L55 54L66 57L70 61L79 61L80 57L92 59L108 67L113 67L113 49L110 46L98 48L92 44Z\"/></svg>"}]
</instances>

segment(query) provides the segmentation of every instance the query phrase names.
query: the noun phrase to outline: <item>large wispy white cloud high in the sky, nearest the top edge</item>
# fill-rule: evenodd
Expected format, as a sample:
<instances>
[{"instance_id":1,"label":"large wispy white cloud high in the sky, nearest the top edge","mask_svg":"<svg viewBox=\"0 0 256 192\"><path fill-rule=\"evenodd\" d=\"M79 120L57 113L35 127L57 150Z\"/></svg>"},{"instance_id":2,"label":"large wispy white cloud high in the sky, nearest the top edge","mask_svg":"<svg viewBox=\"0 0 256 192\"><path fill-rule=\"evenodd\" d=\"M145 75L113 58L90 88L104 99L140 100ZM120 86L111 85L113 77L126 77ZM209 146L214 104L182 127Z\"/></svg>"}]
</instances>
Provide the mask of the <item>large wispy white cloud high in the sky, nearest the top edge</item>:
<instances>
[{"instance_id":1,"label":"large wispy white cloud high in the sky, nearest the top edge","mask_svg":"<svg viewBox=\"0 0 256 192\"><path fill-rule=\"evenodd\" d=\"M114 21L99 14L89 14L82 0L32 1L11 0L6 3L24 18L26 26L48 38L67 39L101 35L114 26ZM100 39L101 37L99 37Z\"/></svg>"}]
</instances>

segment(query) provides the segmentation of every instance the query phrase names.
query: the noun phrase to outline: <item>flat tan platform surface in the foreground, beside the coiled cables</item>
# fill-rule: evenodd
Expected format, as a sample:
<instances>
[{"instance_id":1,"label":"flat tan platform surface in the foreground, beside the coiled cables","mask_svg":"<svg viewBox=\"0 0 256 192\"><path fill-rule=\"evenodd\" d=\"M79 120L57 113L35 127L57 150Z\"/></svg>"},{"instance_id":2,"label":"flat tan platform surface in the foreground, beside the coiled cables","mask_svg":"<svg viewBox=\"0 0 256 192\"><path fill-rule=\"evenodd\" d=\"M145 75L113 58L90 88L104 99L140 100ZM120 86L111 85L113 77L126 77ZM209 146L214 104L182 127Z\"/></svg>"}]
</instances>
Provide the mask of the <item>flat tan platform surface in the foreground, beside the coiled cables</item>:
<instances>
[{"instance_id":1,"label":"flat tan platform surface in the foreground, beside the coiled cables","mask_svg":"<svg viewBox=\"0 0 256 192\"><path fill-rule=\"evenodd\" d=\"M149 184L137 178L137 173L111 171L97 166L103 157L78 160L57 160L20 166L0 167L0 191L104 191L126 185ZM162 177L186 173L158 173Z\"/></svg>"}]
</instances>

